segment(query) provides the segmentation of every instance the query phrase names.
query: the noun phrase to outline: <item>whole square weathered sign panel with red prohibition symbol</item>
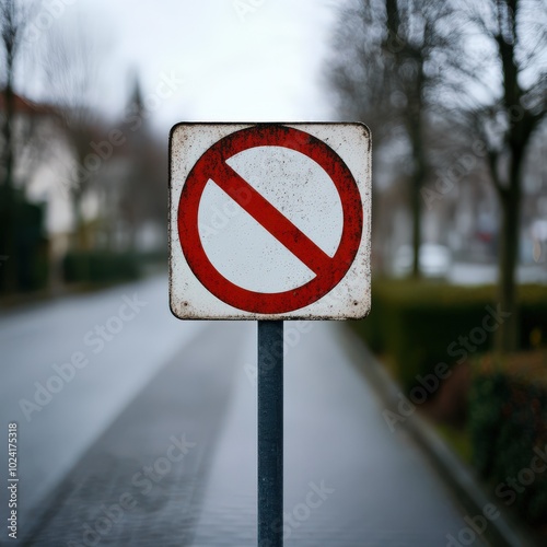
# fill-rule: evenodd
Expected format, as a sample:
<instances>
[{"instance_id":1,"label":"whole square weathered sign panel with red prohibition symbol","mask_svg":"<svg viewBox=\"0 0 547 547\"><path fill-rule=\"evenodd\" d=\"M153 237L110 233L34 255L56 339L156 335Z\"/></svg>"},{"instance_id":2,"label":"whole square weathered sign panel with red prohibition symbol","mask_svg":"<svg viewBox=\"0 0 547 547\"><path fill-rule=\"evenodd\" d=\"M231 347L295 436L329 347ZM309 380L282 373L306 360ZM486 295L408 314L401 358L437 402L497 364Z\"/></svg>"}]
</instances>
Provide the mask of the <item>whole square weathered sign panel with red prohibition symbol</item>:
<instances>
[{"instance_id":1,"label":"whole square weathered sign panel with red prohibition symbol","mask_svg":"<svg viewBox=\"0 0 547 547\"><path fill-rule=\"evenodd\" d=\"M364 317L371 138L362 124L178 124L170 300L182 319Z\"/></svg>"}]
</instances>

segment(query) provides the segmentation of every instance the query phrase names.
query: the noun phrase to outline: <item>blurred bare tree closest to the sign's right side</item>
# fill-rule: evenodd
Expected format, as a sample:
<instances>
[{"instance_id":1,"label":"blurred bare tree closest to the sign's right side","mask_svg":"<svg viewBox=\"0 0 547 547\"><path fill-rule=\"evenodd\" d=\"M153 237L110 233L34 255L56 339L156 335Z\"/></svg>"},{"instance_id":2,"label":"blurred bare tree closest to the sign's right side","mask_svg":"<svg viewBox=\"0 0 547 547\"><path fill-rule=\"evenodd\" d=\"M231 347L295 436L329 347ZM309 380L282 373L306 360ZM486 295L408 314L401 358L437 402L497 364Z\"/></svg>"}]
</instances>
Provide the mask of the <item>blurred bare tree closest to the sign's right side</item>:
<instances>
[{"instance_id":1,"label":"blurred bare tree closest to the sign's right side","mask_svg":"<svg viewBox=\"0 0 547 547\"><path fill-rule=\"evenodd\" d=\"M420 189L428 174L426 150L431 71L439 36L434 1L356 0L340 13L329 81L342 115L372 126L380 146L403 139L412 217L412 275L419 277Z\"/></svg>"}]
</instances>

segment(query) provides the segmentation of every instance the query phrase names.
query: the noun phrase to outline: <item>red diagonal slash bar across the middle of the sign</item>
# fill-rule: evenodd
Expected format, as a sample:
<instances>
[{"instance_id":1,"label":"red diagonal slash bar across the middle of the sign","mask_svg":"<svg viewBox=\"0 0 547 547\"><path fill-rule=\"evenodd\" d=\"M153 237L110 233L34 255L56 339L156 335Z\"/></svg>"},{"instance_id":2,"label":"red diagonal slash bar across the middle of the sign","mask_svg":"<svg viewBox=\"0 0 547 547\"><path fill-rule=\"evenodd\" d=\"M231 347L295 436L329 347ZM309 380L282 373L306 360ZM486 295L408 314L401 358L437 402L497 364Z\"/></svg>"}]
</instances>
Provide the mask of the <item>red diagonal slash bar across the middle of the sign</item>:
<instances>
[{"instance_id":1,"label":"red diagonal slash bar across the middle of the sign","mask_svg":"<svg viewBox=\"0 0 547 547\"><path fill-rule=\"evenodd\" d=\"M274 237L304 263L315 275L331 269L331 258L282 212L253 188L225 162L216 165L211 176L234 201L261 224Z\"/></svg>"}]
</instances>

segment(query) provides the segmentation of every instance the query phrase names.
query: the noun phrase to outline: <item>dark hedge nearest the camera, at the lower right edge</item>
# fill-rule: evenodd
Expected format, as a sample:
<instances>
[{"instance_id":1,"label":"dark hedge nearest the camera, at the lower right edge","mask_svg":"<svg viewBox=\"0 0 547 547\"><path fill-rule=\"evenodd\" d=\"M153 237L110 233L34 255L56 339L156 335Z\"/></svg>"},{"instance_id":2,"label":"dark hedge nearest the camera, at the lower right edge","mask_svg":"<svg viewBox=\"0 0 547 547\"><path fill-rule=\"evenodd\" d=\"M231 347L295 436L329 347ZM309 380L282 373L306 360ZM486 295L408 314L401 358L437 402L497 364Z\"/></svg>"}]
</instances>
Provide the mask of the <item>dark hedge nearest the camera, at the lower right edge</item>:
<instances>
[{"instance_id":1,"label":"dark hedge nearest the camera, at the lower right edge","mask_svg":"<svg viewBox=\"0 0 547 547\"><path fill-rule=\"evenodd\" d=\"M500 371L476 373L469 393L468 419L473 463L490 482L493 494L500 503L514 505L529 524L544 522L547 514L545 382Z\"/></svg>"}]
</instances>

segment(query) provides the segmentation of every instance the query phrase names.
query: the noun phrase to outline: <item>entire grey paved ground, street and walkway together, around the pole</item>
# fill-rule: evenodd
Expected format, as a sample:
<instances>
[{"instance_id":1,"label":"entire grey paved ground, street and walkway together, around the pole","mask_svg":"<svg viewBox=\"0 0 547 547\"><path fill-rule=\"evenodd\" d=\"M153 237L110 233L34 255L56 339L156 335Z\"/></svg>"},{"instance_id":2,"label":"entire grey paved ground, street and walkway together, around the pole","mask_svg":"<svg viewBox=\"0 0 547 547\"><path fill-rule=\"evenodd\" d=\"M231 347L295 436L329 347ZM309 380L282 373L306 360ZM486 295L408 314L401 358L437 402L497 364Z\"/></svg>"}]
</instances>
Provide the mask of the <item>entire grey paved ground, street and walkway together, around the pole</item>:
<instances>
[{"instance_id":1,"label":"entire grey paved ground, street and walkway together, around the pole","mask_svg":"<svg viewBox=\"0 0 547 547\"><path fill-rule=\"evenodd\" d=\"M286 323L286 545L447 545L465 515L340 328ZM27 545L256 545L254 323L178 322L154 278L3 313L0 342Z\"/></svg>"}]
</instances>

